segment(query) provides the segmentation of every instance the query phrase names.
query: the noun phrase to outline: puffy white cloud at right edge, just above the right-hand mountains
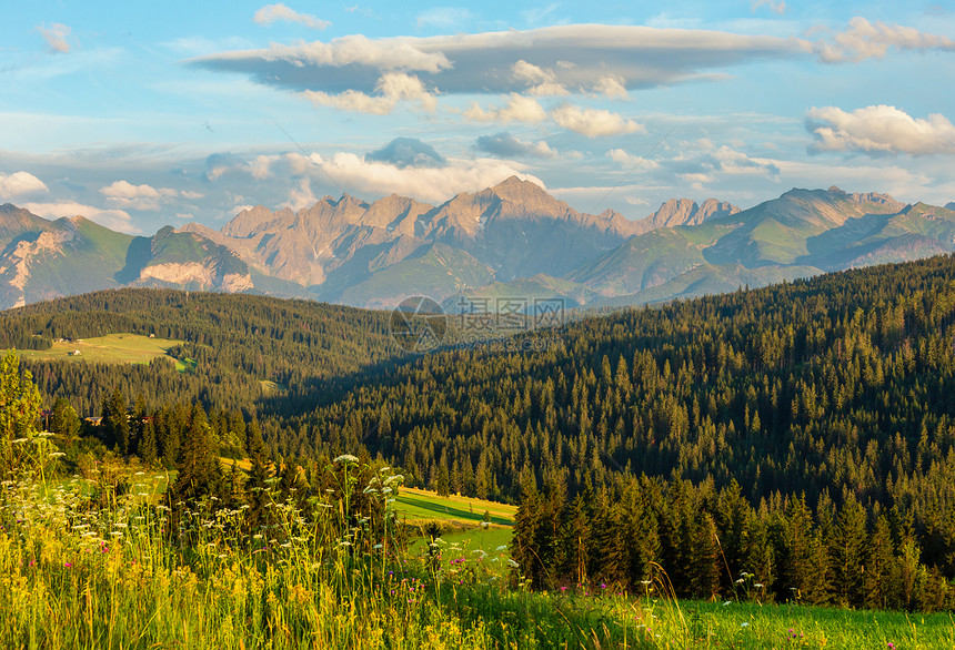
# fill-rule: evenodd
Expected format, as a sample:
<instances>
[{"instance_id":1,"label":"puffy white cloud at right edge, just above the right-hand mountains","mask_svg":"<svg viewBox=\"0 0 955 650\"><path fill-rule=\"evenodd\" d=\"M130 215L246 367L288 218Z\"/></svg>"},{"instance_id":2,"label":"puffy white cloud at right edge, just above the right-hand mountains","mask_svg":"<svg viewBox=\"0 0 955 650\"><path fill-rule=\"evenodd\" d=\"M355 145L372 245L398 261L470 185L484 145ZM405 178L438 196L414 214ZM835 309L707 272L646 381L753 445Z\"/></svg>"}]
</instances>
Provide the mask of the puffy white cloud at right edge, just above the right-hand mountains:
<instances>
[{"instance_id":1,"label":"puffy white cloud at right edge, just above the right-hand mountains","mask_svg":"<svg viewBox=\"0 0 955 650\"><path fill-rule=\"evenodd\" d=\"M815 139L810 151L816 153L955 153L955 125L938 113L923 119L887 105L852 112L836 106L813 108L806 115L806 129Z\"/></svg>"}]
</instances>

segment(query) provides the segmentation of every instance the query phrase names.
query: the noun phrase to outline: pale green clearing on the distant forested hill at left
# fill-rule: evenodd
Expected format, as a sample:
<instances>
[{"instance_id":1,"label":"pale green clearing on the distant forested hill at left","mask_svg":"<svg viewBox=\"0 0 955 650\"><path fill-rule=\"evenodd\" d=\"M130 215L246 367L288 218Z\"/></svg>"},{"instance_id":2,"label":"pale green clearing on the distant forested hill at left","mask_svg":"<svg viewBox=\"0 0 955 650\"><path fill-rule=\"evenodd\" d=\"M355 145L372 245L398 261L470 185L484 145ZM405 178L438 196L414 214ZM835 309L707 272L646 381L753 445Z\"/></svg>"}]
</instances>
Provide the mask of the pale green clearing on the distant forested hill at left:
<instances>
[{"instance_id":1,"label":"pale green clearing on the distant forested hill at left","mask_svg":"<svg viewBox=\"0 0 955 650\"><path fill-rule=\"evenodd\" d=\"M182 344L169 338L150 338L140 334L108 334L94 338L53 343L50 349L18 349L20 358L31 360L69 360L73 363L148 364L167 356L170 347ZM80 351L80 355L69 353ZM171 358L171 357L170 357ZM185 365L175 360L179 370Z\"/></svg>"}]
</instances>

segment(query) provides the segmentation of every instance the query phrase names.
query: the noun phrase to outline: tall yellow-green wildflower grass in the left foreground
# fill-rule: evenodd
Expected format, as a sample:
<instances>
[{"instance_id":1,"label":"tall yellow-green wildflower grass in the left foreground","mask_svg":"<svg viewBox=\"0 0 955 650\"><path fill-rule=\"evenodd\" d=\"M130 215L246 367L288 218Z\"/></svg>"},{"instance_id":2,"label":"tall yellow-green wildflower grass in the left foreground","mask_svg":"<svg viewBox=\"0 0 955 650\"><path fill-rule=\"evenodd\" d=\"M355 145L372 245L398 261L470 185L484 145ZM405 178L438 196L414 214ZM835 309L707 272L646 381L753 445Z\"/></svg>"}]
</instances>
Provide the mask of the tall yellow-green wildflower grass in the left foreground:
<instances>
[{"instance_id":1,"label":"tall yellow-green wildflower grass in the left foreground","mask_svg":"<svg viewBox=\"0 0 955 650\"><path fill-rule=\"evenodd\" d=\"M253 531L242 507L170 510L151 487L162 477L142 473L127 494L107 480L92 496L78 478L4 481L0 647L573 644L570 621L536 630L534 597L499 587L486 559L439 544L405 557L391 509L396 479L376 473L356 485L351 463L340 463L340 490L311 517L272 500L271 524ZM354 511L369 494L384 517Z\"/></svg>"}]
</instances>

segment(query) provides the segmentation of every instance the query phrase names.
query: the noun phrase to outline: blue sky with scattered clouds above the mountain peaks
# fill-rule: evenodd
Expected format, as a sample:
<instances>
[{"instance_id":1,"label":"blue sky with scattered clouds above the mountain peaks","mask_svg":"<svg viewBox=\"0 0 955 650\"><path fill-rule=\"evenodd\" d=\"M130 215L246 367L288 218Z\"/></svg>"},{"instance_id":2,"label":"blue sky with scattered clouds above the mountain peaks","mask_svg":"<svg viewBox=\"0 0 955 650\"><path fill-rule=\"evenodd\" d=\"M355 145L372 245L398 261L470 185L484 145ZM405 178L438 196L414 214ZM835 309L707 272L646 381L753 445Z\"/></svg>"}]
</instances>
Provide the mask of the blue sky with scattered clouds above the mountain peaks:
<instances>
[{"instance_id":1,"label":"blue sky with scattered clouds above the mountain peaks","mask_svg":"<svg viewBox=\"0 0 955 650\"><path fill-rule=\"evenodd\" d=\"M19 3L0 204L134 234L511 175L586 213L955 201L955 2Z\"/></svg>"}]
</instances>

